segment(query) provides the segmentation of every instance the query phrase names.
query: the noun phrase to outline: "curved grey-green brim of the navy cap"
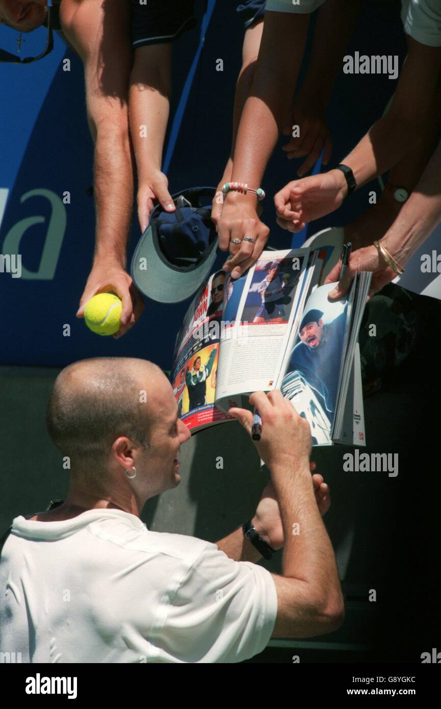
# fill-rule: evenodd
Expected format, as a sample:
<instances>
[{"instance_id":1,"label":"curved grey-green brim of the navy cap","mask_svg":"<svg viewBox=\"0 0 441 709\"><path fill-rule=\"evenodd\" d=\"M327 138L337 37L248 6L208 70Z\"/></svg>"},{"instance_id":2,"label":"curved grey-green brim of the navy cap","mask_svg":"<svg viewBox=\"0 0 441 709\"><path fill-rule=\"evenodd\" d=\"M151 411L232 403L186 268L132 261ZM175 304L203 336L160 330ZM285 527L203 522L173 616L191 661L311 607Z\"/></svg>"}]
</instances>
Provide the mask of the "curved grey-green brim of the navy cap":
<instances>
[{"instance_id":1,"label":"curved grey-green brim of the navy cap","mask_svg":"<svg viewBox=\"0 0 441 709\"><path fill-rule=\"evenodd\" d=\"M131 273L135 286L158 303L179 303L190 298L208 277L216 259L218 239L208 247L198 266L179 268L164 257L148 226L133 254Z\"/></svg>"}]
</instances>

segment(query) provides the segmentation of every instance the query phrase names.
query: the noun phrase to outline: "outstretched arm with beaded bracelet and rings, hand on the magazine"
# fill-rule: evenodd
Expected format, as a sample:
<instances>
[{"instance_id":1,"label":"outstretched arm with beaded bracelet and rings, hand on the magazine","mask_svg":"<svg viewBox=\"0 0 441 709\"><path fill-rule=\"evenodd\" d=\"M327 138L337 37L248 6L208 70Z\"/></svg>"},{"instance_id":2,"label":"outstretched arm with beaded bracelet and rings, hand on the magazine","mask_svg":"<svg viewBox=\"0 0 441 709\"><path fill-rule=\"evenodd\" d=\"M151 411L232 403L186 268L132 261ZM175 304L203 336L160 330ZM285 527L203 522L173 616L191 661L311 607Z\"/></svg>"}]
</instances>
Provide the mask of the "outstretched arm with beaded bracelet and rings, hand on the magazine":
<instances>
[{"instance_id":1,"label":"outstretched arm with beaded bracelet and rings, hand on the magazine","mask_svg":"<svg viewBox=\"0 0 441 709\"><path fill-rule=\"evenodd\" d=\"M262 41L250 94L240 118L231 181L257 189L284 127L306 43L309 15L265 13ZM233 254L224 266L234 278L255 262L269 230L257 216L254 194L229 192L218 221L219 247ZM240 245L230 240L249 238Z\"/></svg>"}]
</instances>

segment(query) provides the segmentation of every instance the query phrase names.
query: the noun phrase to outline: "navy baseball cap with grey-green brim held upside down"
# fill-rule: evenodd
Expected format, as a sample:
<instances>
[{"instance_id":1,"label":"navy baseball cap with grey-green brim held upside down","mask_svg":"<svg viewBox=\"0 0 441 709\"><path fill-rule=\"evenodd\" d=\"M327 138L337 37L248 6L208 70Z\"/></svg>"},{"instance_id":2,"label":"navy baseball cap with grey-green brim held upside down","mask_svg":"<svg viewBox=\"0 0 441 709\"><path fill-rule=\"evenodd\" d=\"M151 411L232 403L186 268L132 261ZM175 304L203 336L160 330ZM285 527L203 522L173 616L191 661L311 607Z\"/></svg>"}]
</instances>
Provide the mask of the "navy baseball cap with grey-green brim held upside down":
<instances>
[{"instance_id":1,"label":"navy baseball cap with grey-green brim held upside down","mask_svg":"<svg viewBox=\"0 0 441 709\"><path fill-rule=\"evenodd\" d=\"M172 195L176 210L157 205L133 254L131 274L147 298L178 303L192 296L213 267L218 235L211 221L215 187L191 187ZM208 202L203 204L203 201Z\"/></svg>"}]
</instances>

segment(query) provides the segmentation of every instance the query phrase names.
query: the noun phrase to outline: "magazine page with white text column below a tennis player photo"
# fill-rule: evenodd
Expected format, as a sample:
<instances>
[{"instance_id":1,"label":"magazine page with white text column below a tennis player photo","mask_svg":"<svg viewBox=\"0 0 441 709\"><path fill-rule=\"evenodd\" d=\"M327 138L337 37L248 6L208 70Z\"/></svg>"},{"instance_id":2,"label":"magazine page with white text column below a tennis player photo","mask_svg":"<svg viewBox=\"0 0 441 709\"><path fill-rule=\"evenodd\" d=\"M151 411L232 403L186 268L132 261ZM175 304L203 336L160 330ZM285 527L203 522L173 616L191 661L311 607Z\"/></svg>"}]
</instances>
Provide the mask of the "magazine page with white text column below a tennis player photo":
<instances>
[{"instance_id":1,"label":"magazine page with white text column below a tennis player photo","mask_svg":"<svg viewBox=\"0 0 441 709\"><path fill-rule=\"evenodd\" d=\"M242 284L233 286L220 335L216 403L223 411L242 406L241 394L276 386L286 345L301 309L309 250L263 252ZM225 323L228 325L228 323Z\"/></svg>"}]
</instances>

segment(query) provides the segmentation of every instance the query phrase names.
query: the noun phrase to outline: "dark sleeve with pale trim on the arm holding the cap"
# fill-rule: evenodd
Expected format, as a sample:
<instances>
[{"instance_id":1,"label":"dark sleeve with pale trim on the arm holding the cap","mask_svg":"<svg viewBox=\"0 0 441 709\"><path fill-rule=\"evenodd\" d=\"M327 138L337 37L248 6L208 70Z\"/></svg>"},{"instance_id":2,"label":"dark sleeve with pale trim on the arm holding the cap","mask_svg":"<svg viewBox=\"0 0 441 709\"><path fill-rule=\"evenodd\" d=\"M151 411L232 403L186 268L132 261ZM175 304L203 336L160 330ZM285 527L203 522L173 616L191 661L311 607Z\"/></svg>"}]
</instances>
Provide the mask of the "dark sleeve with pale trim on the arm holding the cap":
<instances>
[{"instance_id":1,"label":"dark sleeve with pale trim on the arm holding the cap","mask_svg":"<svg viewBox=\"0 0 441 709\"><path fill-rule=\"evenodd\" d=\"M194 0L132 0L133 49L177 40L197 24L193 10Z\"/></svg>"}]
</instances>

